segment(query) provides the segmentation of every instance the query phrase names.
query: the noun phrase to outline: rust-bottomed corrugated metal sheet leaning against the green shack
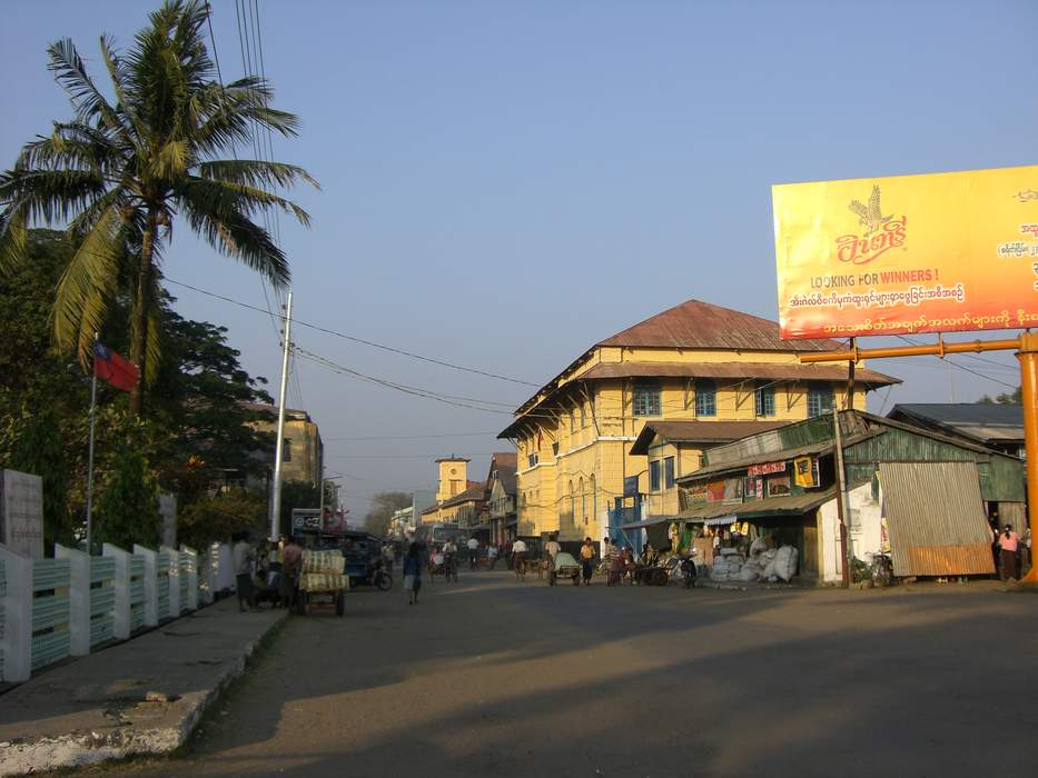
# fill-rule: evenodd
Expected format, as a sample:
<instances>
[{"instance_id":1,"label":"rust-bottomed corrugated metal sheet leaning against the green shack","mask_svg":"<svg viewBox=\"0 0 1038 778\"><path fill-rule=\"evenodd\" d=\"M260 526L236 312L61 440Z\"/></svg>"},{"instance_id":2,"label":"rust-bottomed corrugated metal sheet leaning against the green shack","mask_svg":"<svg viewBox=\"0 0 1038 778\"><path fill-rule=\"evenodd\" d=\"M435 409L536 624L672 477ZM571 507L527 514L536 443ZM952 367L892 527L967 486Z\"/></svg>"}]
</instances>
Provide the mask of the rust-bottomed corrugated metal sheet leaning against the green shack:
<instances>
[{"instance_id":1,"label":"rust-bottomed corrugated metal sheet leaning against the green shack","mask_svg":"<svg viewBox=\"0 0 1038 778\"><path fill-rule=\"evenodd\" d=\"M896 576L995 572L973 462L881 462Z\"/></svg>"}]
</instances>

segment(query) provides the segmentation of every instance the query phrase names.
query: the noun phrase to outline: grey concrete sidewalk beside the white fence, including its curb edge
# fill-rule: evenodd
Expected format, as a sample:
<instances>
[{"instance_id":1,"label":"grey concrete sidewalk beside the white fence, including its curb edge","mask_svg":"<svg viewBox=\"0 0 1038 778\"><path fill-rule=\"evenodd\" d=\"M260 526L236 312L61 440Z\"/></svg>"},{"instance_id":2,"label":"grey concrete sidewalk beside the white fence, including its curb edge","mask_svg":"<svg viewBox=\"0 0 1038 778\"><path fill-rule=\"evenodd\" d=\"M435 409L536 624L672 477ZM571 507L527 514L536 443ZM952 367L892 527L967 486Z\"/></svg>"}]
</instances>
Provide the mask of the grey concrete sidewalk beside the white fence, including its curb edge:
<instances>
[{"instance_id":1,"label":"grey concrete sidewalk beside the white fence, including its curb edge","mask_svg":"<svg viewBox=\"0 0 1038 778\"><path fill-rule=\"evenodd\" d=\"M181 746L285 610L226 599L0 697L0 776Z\"/></svg>"}]
</instances>

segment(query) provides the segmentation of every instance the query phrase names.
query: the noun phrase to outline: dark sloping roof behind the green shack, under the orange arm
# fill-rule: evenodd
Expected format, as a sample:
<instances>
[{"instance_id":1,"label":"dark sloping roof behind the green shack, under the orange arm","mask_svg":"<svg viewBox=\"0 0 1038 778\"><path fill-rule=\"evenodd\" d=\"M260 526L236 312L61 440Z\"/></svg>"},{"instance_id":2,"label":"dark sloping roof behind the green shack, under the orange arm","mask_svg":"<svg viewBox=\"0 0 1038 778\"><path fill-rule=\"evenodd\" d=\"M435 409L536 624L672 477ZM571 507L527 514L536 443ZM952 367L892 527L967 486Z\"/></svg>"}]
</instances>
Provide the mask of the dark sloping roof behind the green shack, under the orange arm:
<instances>
[{"instance_id":1,"label":"dark sloping roof behind the green shack, under the orange arm","mask_svg":"<svg viewBox=\"0 0 1038 778\"><path fill-rule=\"evenodd\" d=\"M902 402L887 418L983 443L1024 459L1024 406L977 402Z\"/></svg>"}]
</instances>

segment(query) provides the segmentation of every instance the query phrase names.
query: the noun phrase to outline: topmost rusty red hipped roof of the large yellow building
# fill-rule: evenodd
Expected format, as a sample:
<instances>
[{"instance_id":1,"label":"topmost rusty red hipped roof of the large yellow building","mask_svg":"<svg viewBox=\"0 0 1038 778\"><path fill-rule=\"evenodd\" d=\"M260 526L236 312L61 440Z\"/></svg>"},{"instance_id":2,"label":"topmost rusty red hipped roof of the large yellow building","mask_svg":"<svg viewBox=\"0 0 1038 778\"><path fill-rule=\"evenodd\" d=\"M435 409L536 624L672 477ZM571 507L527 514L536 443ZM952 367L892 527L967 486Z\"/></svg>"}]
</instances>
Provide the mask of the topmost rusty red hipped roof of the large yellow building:
<instances>
[{"instance_id":1,"label":"topmost rusty red hipped roof of the large yellow building","mask_svg":"<svg viewBox=\"0 0 1038 778\"><path fill-rule=\"evenodd\" d=\"M597 346L751 351L832 351L834 340L782 340L769 319L702 300L686 300L617 332Z\"/></svg>"}]
</instances>

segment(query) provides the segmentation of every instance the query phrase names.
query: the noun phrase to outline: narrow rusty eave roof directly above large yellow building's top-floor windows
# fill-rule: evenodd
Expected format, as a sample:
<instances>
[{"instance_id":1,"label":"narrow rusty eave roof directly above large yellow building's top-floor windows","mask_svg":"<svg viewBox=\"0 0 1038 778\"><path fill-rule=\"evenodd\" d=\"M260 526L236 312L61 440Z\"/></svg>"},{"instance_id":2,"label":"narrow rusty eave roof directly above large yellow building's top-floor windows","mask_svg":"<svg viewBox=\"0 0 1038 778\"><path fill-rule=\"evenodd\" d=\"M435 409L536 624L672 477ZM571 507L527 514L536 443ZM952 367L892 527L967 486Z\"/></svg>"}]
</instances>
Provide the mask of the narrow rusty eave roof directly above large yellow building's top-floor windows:
<instances>
[{"instance_id":1,"label":"narrow rusty eave roof directly above large yellow building's top-floor windows","mask_svg":"<svg viewBox=\"0 0 1038 778\"><path fill-rule=\"evenodd\" d=\"M847 368L839 365L774 365L771 362L600 362L580 376L602 378L763 378L788 381L847 382ZM876 370L858 368L854 380L870 386L890 386L901 380Z\"/></svg>"}]
</instances>

